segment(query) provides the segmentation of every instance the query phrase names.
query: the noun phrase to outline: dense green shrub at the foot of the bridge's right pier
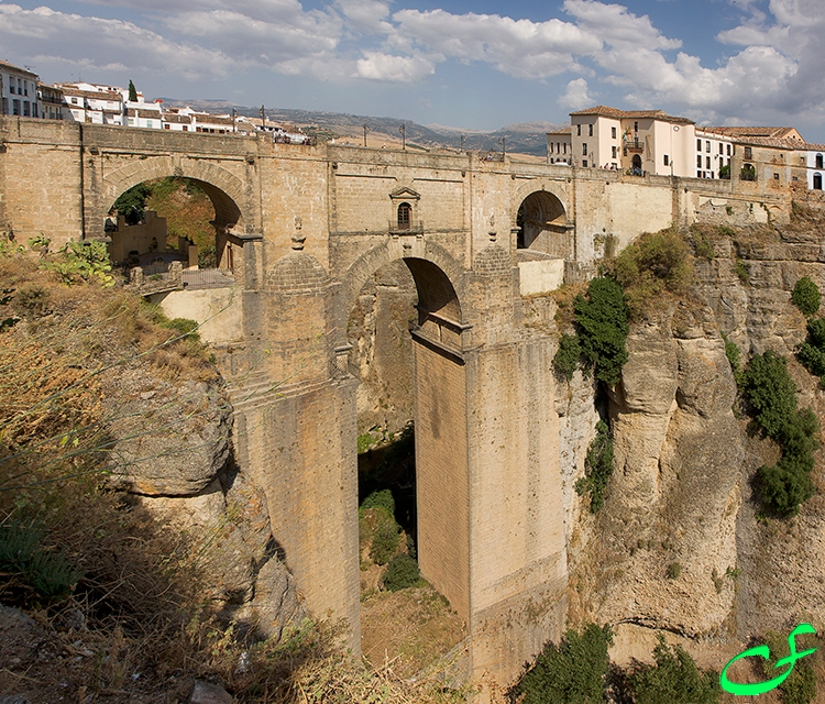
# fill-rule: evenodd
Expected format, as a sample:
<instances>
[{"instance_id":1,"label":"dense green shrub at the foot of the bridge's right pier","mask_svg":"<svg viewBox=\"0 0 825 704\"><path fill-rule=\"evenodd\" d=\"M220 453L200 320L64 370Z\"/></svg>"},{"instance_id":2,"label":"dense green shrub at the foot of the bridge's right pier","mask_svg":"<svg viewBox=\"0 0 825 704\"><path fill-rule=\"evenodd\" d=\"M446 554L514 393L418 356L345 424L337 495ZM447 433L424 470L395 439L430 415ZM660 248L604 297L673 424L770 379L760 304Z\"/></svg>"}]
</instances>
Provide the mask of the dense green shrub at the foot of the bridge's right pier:
<instances>
[{"instance_id":1,"label":"dense green shrub at the foot of the bridge's right pier","mask_svg":"<svg viewBox=\"0 0 825 704\"><path fill-rule=\"evenodd\" d=\"M609 626L568 630L561 644L548 642L534 666L513 688L521 704L596 704L604 700L604 680L613 644Z\"/></svg>"}]
</instances>

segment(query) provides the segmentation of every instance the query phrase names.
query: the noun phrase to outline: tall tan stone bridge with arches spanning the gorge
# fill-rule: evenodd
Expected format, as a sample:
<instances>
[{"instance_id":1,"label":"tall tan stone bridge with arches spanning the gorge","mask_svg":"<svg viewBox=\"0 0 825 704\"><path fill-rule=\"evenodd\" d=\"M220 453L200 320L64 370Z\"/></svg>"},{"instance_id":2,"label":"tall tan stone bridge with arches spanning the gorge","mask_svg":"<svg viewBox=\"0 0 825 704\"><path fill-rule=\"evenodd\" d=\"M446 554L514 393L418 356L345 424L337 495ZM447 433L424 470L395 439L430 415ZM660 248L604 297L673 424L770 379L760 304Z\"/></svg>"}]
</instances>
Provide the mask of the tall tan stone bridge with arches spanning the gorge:
<instances>
[{"instance_id":1,"label":"tall tan stone bridge with arches spanning the gorge","mask_svg":"<svg viewBox=\"0 0 825 704\"><path fill-rule=\"evenodd\" d=\"M468 624L468 672L499 682L560 635L565 614L572 482L553 403L554 305L542 294L586 277L608 242L719 208L787 211L767 196L755 210L729 182L3 118L0 232L101 239L118 196L173 175L211 198L238 282L217 319L200 316L233 389L238 462L265 487L308 606L349 619L356 651L346 322L375 272L408 266L419 563Z\"/></svg>"}]
</instances>

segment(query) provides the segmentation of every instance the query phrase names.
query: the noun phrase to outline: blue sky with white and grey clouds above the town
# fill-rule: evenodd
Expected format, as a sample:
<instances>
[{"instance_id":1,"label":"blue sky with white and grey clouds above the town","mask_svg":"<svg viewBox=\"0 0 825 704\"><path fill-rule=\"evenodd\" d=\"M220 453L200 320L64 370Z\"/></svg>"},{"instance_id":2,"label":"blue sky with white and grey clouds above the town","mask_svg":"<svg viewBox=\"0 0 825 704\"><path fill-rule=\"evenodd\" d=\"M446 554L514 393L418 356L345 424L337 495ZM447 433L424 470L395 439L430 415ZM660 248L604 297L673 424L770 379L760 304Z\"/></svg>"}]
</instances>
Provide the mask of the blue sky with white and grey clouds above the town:
<instances>
[{"instance_id":1,"label":"blue sky with white and grey clouds above the town","mask_svg":"<svg viewBox=\"0 0 825 704\"><path fill-rule=\"evenodd\" d=\"M493 130L594 105L825 142L823 0L0 1L42 79Z\"/></svg>"}]
</instances>

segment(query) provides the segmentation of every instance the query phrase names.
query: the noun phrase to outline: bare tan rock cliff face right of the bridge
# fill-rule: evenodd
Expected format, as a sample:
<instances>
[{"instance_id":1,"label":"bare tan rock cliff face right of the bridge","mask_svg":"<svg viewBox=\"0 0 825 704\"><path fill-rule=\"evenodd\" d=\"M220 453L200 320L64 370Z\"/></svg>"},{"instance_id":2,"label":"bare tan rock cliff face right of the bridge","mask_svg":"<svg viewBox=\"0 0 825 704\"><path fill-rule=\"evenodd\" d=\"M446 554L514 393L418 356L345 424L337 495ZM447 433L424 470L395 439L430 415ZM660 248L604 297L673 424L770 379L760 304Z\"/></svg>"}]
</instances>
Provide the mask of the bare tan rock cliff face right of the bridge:
<instances>
[{"instance_id":1,"label":"bare tan rock cliff face right of the bridge","mask_svg":"<svg viewBox=\"0 0 825 704\"><path fill-rule=\"evenodd\" d=\"M690 296L631 326L629 361L609 393L609 496L573 529L571 542L583 544L571 553L574 618L741 641L803 614L825 617L825 499L791 519L757 520L752 480L777 448L734 415L721 337L743 363L768 349L789 359L800 406L825 418L817 380L793 360L806 333L790 301L802 276L825 286L825 249L810 227L714 233L715 257L696 261ZM813 479L821 487L821 453Z\"/></svg>"}]
</instances>

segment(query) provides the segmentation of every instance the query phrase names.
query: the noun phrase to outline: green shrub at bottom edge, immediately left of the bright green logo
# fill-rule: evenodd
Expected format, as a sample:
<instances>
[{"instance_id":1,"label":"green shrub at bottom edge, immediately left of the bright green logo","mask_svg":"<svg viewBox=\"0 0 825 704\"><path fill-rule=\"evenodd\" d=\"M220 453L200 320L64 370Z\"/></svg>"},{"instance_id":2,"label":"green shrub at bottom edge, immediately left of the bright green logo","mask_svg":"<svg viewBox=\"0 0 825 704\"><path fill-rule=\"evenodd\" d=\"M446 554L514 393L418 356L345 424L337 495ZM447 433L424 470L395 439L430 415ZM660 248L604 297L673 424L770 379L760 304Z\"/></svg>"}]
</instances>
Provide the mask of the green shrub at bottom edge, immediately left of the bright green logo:
<instances>
[{"instance_id":1,"label":"green shrub at bottom edge, immediately left of the bright green logo","mask_svg":"<svg viewBox=\"0 0 825 704\"><path fill-rule=\"evenodd\" d=\"M716 672L701 671L680 646L662 636L653 649L654 666L641 666L628 676L636 704L716 704L722 696Z\"/></svg>"}]
</instances>

